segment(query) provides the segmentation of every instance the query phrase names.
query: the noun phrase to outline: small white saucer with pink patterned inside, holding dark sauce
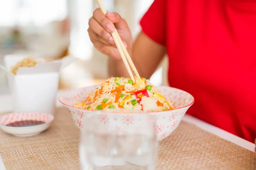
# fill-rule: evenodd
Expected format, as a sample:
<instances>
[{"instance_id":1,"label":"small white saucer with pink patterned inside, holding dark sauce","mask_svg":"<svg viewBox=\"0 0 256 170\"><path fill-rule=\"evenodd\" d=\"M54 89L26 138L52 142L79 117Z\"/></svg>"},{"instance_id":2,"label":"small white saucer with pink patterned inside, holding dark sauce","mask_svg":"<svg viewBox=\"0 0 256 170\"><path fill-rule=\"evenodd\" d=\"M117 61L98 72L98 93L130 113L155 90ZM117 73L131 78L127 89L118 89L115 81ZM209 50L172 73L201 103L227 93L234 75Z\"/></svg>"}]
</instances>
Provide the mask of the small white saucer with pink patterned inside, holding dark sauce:
<instances>
[{"instance_id":1,"label":"small white saucer with pink patterned inside, holding dark sauce","mask_svg":"<svg viewBox=\"0 0 256 170\"><path fill-rule=\"evenodd\" d=\"M19 112L0 117L0 127L15 136L34 136L46 130L54 116L49 113ZM41 122L40 125L34 125ZM10 126L12 124L12 126Z\"/></svg>"}]
</instances>

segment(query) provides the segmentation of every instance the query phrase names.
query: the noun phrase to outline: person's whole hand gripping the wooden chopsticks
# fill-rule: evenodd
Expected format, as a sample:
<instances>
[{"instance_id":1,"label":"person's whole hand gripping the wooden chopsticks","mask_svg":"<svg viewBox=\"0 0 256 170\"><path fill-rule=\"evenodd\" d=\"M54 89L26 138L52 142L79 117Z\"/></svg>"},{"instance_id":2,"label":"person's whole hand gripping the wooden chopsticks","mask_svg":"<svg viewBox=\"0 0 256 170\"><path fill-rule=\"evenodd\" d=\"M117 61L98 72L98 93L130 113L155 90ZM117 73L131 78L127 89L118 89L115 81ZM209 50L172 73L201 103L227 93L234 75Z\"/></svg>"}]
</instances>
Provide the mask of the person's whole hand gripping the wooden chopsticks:
<instances>
[{"instance_id":1,"label":"person's whole hand gripping the wooden chopsticks","mask_svg":"<svg viewBox=\"0 0 256 170\"><path fill-rule=\"evenodd\" d=\"M91 42L93 42L93 45L97 50L114 59L121 59L113 37L111 36L111 33L114 31L114 26L127 50L131 51L131 31L129 30L126 21L116 12L107 12L107 14L104 15L101 9L97 8L93 12L93 17L89 20L89 28L87 31Z\"/></svg>"}]
</instances>

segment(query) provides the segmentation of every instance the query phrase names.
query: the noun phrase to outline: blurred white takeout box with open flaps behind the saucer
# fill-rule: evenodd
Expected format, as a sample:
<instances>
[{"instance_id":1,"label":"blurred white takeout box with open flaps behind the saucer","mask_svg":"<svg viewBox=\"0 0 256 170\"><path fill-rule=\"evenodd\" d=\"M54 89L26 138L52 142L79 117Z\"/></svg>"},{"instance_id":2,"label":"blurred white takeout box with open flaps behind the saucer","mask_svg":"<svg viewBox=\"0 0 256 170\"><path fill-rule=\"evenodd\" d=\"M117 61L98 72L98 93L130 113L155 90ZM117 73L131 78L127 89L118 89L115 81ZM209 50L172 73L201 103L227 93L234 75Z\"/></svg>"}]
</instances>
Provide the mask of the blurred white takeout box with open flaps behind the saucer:
<instances>
[{"instance_id":1,"label":"blurred white takeout box with open flaps behind the saucer","mask_svg":"<svg viewBox=\"0 0 256 170\"><path fill-rule=\"evenodd\" d=\"M24 57L28 56L6 55L6 68L11 71ZM64 57L52 62L44 62L42 58L35 59L40 62L35 67L20 67L16 75L8 73L13 112L36 111L54 114L59 72L76 59Z\"/></svg>"}]
</instances>

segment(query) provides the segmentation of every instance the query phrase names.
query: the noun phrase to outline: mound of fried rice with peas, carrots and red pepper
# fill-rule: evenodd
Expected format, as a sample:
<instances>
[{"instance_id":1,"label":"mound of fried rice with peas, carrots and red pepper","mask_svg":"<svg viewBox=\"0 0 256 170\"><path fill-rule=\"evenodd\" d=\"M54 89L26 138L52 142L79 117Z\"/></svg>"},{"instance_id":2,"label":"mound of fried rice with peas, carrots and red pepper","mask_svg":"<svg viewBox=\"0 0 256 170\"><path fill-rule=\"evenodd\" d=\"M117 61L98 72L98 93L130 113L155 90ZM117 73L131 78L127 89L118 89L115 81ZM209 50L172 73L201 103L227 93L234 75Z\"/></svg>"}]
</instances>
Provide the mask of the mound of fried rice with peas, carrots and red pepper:
<instances>
[{"instance_id":1,"label":"mound of fried rice with peas, carrots and red pepper","mask_svg":"<svg viewBox=\"0 0 256 170\"><path fill-rule=\"evenodd\" d=\"M76 101L76 108L87 110L134 110L168 111L174 109L172 101L167 100L148 79L110 77L88 94L84 101Z\"/></svg>"}]
</instances>

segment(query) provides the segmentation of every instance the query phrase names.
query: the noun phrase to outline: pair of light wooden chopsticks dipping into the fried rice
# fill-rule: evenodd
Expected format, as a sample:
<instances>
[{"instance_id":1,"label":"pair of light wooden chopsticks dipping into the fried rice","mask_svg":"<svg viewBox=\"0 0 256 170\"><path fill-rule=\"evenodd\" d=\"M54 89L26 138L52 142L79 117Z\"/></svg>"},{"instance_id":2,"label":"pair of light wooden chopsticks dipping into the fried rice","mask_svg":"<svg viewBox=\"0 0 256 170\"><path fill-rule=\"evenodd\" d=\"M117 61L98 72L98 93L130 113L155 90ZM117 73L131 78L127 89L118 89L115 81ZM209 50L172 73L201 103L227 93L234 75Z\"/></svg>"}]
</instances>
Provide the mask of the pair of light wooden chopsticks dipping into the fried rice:
<instances>
[{"instance_id":1,"label":"pair of light wooden chopsticks dipping into the fried rice","mask_svg":"<svg viewBox=\"0 0 256 170\"><path fill-rule=\"evenodd\" d=\"M101 0L96 0L96 1L97 1L97 4L98 4L99 8L102 10L103 14L105 15L107 13L107 11L106 11L102 1ZM135 76L138 79L140 79L140 75L139 75L137 69L135 68L135 65L132 62L131 57L130 57L127 49L125 48L125 45L122 42L122 39L121 39L120 35L118 34L116 28L115 28L115 31L112 33L112 37L114 39L114 42L116 43L116 47L117 47L117 49L118 49L118 51L119 51L119 53L120 53L120 55L122 57L122 60L123 60L123 62L125 64L125 67L126 67L126 69L128 71L128 74L130 75L132 81L135 82L134 75L133 75L133 73L131 71L131 68L134 71L134 74L135 74ZM131 68L130 68L128 62L131 65Z\"/></svg>"}]
</instances>

